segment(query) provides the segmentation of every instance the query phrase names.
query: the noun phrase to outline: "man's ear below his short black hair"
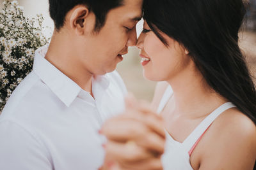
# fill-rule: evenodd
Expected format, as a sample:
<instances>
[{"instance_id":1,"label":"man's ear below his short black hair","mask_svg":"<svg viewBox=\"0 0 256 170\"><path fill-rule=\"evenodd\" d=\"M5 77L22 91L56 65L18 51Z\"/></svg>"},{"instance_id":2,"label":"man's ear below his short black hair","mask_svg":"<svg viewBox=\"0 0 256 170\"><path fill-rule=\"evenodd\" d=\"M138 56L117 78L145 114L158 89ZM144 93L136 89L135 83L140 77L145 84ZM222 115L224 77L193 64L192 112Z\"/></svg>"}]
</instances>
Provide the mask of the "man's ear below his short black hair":
<instances>
[{"instance_id":1,"label":"man's ear below his short black hair","mask_svg":"<svg viewBox=\"0 0 256 170\"><path fill-rule=\"evenodd\" d=\"M89 10L86 6L78 5L72 10L69 23L70 27L76 30L78 35L84 34L84 27L86 24L86 17L89 15Z\"/></svg>"}]
</instances>

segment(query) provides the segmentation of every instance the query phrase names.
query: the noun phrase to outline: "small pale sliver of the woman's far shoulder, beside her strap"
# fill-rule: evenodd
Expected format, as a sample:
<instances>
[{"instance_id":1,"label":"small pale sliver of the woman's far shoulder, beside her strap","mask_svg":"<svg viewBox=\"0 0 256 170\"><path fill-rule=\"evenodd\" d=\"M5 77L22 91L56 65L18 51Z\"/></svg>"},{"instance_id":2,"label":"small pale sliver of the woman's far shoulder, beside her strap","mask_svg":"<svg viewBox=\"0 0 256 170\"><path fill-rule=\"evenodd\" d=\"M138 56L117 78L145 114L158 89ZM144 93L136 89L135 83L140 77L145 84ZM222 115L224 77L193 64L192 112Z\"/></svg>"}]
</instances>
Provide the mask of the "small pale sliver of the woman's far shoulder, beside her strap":
<instances>
[{"instance_id":1,"label":"small pale sliver of the woman's far shoulder, beside her strap","mask_svg":"<svg viewBox=\"0 0 256 170\"><path fill-rule=\"evenodd\" d=\"M159 81L156 85L156 89L154 92L154 98L152 100L151 106L154 110L157 110L158 105L163 97L163 94L168 87L168 83L166 81Z\"/></svg>"}]
</instances>

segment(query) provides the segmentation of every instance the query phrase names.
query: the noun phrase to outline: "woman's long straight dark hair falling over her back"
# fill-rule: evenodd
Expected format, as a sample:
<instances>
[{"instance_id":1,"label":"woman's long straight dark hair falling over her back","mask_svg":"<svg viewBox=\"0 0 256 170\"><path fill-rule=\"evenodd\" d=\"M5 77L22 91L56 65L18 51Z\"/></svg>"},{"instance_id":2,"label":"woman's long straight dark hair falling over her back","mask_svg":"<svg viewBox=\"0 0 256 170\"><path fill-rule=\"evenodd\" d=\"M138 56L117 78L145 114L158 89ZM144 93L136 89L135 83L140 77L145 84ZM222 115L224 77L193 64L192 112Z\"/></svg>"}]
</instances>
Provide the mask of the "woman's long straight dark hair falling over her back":
<instances>
[{"instance_id":1,"label":"woman's long straight dark hair falling over her back","mask_svg":"<svg viewBox=\"0 0 256 170\"><path fill-rule=\"evenodd\" d=\"M208 85L256 124L256 91L238 46L243 0L145 0L143 18L189 51Z\"/></svg>"}]
</instances>

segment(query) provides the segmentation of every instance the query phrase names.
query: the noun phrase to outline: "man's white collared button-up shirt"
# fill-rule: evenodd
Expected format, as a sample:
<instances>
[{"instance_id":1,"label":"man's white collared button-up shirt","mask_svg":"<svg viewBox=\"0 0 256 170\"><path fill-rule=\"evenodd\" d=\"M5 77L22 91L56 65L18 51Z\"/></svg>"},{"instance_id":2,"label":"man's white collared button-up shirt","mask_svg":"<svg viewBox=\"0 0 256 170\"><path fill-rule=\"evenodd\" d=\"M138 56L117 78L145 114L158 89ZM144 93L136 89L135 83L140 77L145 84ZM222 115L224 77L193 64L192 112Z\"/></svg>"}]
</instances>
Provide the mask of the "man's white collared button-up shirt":
<instances>
[{"instance_id":1,"label":"man's white collared button-up shirt","mask_svg":"<svg viewBox=\"0 0 256 170\"><path fill-rule=\"evenodd\" d=\"M93 95L36 50L33 71L0 116L0 169L93 170L104 160L100 125L124 111L126 89L114 71L93 79Z\"/></svg>"}]
</instances>

